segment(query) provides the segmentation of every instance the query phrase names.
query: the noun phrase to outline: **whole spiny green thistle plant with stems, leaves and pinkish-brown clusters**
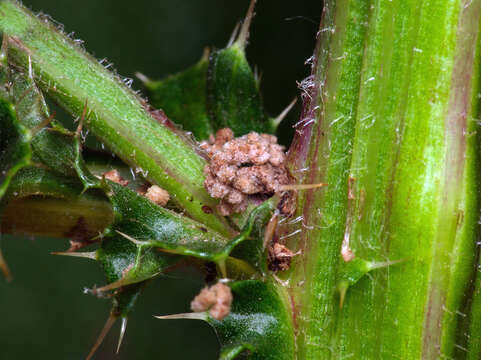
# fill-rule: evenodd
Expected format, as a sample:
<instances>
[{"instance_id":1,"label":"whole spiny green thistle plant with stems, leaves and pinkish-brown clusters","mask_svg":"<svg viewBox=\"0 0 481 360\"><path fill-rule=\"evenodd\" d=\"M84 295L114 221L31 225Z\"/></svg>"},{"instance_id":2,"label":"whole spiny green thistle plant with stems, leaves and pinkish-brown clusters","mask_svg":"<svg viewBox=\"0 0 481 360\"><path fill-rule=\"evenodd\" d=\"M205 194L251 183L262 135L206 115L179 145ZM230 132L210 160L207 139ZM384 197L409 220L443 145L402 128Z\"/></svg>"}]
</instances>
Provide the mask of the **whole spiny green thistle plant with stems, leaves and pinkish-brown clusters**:
<instances>
[{"instance_id":1,"label":"whole spiny green thistle plant with stems, leaves and pinkish-brown clusters","mask_svg":"<svg viewBox=\"0 0 481 360\"><path fill-rule=\"evenodd\" d=\"M0 2L0 229L67 237L57 255L100 264L87 292L113 305L87 358L117 320L118 351L144 288L185 264L206 287L152 315L207 322L220 359L481 356L481 1L319 5L284 154L246 60L254 0L226 48L140 74L148 100ZM89 151L87 129L121 161Z\"/></svg>"}]
</instances>

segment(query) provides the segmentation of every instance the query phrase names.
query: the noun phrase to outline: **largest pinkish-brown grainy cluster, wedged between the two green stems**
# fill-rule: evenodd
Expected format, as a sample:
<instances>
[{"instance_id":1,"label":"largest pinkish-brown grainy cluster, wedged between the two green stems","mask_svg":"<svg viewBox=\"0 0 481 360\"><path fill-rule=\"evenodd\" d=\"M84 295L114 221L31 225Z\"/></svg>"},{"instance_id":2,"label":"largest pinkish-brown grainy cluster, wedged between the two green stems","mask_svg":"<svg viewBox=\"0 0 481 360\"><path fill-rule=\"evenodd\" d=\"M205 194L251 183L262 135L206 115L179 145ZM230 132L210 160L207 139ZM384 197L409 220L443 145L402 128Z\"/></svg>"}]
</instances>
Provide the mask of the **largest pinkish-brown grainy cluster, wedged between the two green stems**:
<instances>
[{"instance_id":1,"label":"largest pinkish-brown grainy cluster, wedged between the two green stems","mask_svg":"<svg viewBox=\"0 0 481 360\"><path fill-rule=\"evenodd\" d=\"M218 210L224 216L244 211L250 200L265 200L290 182L284 147L273 135L251 132L234 138L231 129L220 129L201 148L209 158L204 186L222 199Z\"/></svg>"}]
</instances>

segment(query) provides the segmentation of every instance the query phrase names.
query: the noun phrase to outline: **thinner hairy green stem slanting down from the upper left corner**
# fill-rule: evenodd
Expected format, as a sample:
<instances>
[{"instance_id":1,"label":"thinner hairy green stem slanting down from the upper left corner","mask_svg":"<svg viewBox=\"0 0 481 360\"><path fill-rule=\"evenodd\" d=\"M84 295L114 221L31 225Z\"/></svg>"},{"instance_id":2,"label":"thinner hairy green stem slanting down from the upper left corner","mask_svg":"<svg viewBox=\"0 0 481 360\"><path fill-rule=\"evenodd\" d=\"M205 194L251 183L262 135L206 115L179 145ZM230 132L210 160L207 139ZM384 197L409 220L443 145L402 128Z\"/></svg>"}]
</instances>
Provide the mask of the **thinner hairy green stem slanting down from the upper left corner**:
<instances>
[{"instance_id":1,"label":"thinner hairy green stem slanting down from the upper left corner","mask_svg":"<svg viewBox=\"0 0 481 360\"><path fill-rule=\"evenodd\" d=\"M33 69L40 87L126 163L165 188L194 219L223 235L233 231L204 189L204 160L180 133L156 122L142 100L80 46L19 3L0 2L0 32L9 38L9 59Z\"/></svg>"}]
</instances>

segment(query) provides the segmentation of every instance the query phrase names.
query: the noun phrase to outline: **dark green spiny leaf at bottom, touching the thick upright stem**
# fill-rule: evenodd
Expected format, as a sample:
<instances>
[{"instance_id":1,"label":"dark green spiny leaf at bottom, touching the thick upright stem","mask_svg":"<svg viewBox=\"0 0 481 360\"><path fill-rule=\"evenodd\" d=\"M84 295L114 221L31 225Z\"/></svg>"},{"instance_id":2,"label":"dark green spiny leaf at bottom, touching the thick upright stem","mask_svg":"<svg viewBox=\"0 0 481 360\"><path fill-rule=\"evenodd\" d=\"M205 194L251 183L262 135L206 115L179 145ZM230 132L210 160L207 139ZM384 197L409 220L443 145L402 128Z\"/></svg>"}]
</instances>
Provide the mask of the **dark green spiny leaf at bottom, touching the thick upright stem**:
<instances>
[{"instance_id":1,"label":"dark green spiny leaf at bottom, touching the thick upright stem","mask_svg":"<svg viewBox=\"0 0 481 360\"><path fill-rule=\"evenodd\" d=\"M233 303L219 321L209 313L160 316L160 319L207 321L221 343L220 360L291 360L294 355L292 320L287 313L284 289L271 282L229 282ZM255 295L254 295L255 294ZM245 357L244 357L245 356Z\"/></svg>"}]
</instances>

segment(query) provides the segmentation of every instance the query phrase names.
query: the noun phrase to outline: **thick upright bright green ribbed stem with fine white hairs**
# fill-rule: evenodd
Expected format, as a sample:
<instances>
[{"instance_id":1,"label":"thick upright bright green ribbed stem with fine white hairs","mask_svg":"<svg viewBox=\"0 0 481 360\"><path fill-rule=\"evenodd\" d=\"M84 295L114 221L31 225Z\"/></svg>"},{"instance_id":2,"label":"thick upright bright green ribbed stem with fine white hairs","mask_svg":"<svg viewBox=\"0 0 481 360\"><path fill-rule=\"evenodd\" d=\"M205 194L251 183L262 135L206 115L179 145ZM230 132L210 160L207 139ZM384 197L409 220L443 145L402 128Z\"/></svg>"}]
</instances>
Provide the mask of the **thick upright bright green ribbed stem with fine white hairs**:
<instances>
[{"instance_id":1,"label":"thick upright bright green ribbed stem with fine white hairs","mask_svg":"<svg viewBox=\"0 0 481 360\"><path fill-rule=\"evenodd\" d=\"M302 251L285 277L299 358L450 358L479 204L481 1L326 1L290 162ZM308 168L308 171L302 169ZM343 240L373 270L339 307ZM466 341L466 339L464 339Z\"/></svg>"}]
</instances>

